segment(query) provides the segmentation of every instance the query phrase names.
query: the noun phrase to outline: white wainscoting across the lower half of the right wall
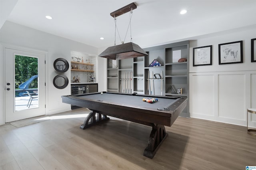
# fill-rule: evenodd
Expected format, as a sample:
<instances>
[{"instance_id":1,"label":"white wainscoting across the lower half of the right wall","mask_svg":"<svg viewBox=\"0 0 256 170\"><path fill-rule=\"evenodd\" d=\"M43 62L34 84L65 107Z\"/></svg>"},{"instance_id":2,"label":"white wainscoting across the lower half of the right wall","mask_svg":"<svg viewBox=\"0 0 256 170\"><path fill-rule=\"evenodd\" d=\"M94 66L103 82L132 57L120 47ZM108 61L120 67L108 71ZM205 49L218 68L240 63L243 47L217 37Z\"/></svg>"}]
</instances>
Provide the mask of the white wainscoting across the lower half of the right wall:
<instances>
[{"instance_id":1,"label":"white wainscoting across the lower half of the right wall","mask_svg":"<svg viewBox=\"0 0 256 170\"><path fill-rule=\"evenodd\" d=\"M246 126L256 108L256 71L190 73L190 116ZM248 115L256 128L256 114Z\"/></svg>"}]
</instances>

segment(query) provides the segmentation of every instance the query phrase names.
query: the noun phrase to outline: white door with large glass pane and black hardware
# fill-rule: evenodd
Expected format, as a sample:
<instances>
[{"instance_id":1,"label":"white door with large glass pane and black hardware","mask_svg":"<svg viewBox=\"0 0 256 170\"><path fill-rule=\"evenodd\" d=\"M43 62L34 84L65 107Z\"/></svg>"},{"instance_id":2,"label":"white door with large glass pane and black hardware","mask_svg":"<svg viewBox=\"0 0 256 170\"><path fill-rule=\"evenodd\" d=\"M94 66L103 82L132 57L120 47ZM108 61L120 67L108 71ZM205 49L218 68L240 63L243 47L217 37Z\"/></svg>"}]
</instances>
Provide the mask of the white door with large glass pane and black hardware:
<instances>
[{"instance_id":1,"label":"white door with large glass pane and black hardware","mask_svg":"<svg viewBox=\"0 0 256 170\"><path fill-rule=\"evenodd\" d=\"M4 48L5 123L45 115L45 54Z\"/></svg>"}]
</instances>

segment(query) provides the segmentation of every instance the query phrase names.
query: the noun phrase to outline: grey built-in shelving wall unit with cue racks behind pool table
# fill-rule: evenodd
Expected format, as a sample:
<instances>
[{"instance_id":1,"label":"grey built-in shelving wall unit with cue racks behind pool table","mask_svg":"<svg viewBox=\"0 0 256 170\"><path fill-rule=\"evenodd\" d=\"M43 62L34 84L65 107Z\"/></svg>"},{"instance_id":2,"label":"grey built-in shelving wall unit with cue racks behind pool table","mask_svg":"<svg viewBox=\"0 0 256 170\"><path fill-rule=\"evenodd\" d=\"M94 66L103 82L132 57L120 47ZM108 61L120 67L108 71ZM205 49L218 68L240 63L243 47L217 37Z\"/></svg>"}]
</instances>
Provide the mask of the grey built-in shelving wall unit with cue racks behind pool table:
<instances>
[{"instance_id":1,"label":"grey built-in shelving wall unit with cue racks behind pool table","mask_svg":"<svg viewBox=\"0 0 256 170\"><path fill-rule=\"evenodd\" d=\"M144 51L148 56L107 59L107 91L189 99L189 41L148 47ZM186 61L178 62L180 58ZM190 117L189 101L180 116Z\"/></svg>"}]
</instances>

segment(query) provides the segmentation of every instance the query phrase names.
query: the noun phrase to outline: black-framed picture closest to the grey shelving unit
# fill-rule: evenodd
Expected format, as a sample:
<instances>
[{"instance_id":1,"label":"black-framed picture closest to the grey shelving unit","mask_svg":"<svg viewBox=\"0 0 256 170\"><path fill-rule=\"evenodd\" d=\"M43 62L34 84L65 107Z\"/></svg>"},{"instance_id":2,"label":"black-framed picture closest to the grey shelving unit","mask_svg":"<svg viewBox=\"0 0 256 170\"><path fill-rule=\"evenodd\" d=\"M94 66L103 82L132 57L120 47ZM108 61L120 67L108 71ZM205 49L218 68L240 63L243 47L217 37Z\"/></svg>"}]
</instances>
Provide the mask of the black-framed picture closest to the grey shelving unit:
<instances>
[{"instance_id":1,"label":"black-framed picture closest to the grey shelving unit","mask_svg":"<svg viewBox=\"0 0 256 170\"><path fill-rule=\"evenodd\" d=\"M212 65L212 45L193 48L193 66Z\"/></svg>"}]
</instances>

